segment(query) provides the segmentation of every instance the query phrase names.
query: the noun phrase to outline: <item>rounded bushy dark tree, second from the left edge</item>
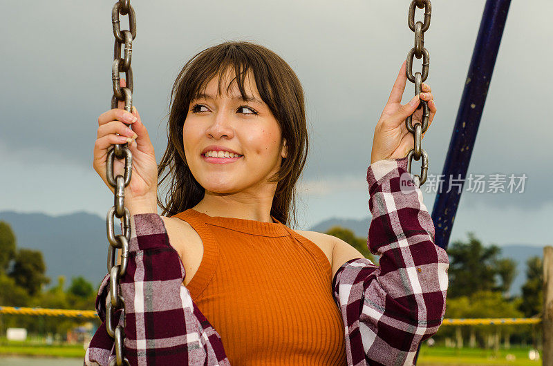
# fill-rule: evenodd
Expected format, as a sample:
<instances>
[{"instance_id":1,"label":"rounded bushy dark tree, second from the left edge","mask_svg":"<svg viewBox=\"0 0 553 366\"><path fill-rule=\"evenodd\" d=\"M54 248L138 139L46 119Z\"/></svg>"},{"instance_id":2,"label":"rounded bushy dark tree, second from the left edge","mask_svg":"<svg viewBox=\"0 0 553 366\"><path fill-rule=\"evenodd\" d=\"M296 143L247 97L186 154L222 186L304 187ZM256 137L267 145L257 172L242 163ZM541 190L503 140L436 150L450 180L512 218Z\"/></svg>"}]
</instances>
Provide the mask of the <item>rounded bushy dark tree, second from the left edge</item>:
<instances>
[{"instance_id":1,"label":"rounded bushy dark tree, second from the left edge","mask_svg":"<svg viewBox=\"0 0 553 366\"><path fill-rule=\"evenodd\" d=\"M18 286L26 289L30 296L35 296L40 292L42 285L50 282L45 273L46 265L41 251L31 249L17 251L10 277Z\"/></svg>"}]
</instances>

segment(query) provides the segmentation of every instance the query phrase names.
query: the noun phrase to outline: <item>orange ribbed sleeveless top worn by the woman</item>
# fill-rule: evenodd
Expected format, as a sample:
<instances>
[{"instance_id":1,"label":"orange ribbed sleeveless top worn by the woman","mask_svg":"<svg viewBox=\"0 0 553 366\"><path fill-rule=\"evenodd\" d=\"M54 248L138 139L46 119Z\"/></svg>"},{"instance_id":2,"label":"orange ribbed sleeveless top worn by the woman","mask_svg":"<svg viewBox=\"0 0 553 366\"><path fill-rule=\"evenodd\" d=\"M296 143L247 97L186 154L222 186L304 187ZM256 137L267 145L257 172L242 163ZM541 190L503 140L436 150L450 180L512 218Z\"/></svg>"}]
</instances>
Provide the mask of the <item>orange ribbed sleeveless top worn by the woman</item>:
<instances>
[{"instance_id":1,"label":"orange ribbed sleeveless top worn by the woman","mask_svg":"<svg viewBox=\"0 0 553 366\"><path fill-rule=\"evenodd\" d=\"M203 241L187 285L232 366L345 365L344 323L332 269L316 244L278 220L174 215Z\"/></svg>"}]
</instances>

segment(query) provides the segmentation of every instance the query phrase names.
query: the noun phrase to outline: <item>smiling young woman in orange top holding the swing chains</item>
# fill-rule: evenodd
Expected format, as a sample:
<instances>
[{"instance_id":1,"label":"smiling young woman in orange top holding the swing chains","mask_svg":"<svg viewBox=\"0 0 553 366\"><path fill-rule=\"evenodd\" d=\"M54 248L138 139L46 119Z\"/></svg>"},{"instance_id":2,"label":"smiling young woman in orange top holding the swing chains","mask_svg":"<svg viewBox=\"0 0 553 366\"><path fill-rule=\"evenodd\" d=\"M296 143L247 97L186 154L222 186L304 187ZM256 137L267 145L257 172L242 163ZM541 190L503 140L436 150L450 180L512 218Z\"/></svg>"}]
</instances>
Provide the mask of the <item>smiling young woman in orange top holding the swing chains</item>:
<instances>
[{"instance_id":1,"label":"smiling young woman in orange top holding the swing chains","mask_svg":"<svg viewBox=\"0 0 553 366\"><path fill-rule=\"evenodd\" d=\"M368 247L379 267L335 237L290 228L308 151L303 90L267 48L227 42L182 68L159 166L136 109L100 115L93 165L104 182L112 144L127 141L133 154L126 320L113 320L124 325L131 365L412 363L442 322L448 260L420 189L400 189L413 147L404 120L415 113L420 122L420 99L430 123L436 113L426 84L400 104L405 75L404 63L367 174ZM102 321L108 282L97 297ZM113 352L102 324L86 363L107 365Z\"/></svg>"}]
</instances>

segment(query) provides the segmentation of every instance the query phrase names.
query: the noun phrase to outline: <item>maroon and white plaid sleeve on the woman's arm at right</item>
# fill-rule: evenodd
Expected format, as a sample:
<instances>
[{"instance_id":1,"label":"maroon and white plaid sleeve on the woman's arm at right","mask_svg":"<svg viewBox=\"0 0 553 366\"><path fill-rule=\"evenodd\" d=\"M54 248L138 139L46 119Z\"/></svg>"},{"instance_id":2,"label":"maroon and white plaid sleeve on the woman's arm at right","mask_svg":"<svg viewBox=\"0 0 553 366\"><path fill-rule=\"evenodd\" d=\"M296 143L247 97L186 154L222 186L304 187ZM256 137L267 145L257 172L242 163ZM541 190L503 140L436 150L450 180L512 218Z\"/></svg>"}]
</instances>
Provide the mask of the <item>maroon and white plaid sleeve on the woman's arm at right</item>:
<instances>
[{"instance_id":1,"label":"maroon and white plaid sleeve on the woman's arm at right","mask_svg":"<svg viewBox=\"0 0 553 366\"><path fill-rule=\"evenodd\" d=\"M413 365L420 342L442 324L449 260L434 244L420 189L401 189L406 171L406 157L368 167L368 249L380 256L379 266L349 260L332 280L348 365Z\"/></svg>"}]
</instances>

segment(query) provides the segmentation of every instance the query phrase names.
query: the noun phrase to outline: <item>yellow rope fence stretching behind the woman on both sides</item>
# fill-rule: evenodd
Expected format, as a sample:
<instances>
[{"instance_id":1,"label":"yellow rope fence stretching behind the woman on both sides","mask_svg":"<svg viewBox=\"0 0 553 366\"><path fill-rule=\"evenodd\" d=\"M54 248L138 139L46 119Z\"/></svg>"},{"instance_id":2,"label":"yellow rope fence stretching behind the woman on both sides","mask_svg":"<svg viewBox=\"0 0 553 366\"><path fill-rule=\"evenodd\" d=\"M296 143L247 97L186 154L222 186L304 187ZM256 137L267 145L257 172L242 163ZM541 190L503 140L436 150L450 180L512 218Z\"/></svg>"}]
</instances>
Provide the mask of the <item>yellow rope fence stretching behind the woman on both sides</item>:
<instances>
[{"instance_id":1,"label":"yellow rope fence stretching behind the woman on both sides","mask_svg":"<svg viewBox=\"0 0 553 366\"><path fill-rule=\"evenodd\" d=\"M0 314L19 314L35 316L66 316L68 318L97 318L93 310L43 309L41 307L3 307ZM482 318L482 319L444 319L442 325L514 325L539 324L541 318Z\"/></svg>"}]
</instances>

